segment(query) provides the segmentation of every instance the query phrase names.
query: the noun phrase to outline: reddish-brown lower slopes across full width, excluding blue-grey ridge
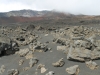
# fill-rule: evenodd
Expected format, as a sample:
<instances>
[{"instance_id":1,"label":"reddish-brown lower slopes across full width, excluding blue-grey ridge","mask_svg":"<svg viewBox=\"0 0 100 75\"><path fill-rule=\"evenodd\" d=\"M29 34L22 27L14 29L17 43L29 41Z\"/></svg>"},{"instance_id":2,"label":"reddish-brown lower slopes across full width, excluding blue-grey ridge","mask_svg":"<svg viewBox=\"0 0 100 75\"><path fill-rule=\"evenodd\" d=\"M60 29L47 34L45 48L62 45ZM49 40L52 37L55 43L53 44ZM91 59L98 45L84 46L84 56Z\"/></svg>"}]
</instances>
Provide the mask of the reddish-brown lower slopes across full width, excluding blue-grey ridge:
<instances>
[{"instance_id":1,"label":"reddish-brown lower slopes across full width, excluding blue-grey ridge","mask_svg":"<svg viewBox=\"0 0 100 75\"><path fill-rule=\"evenodd\" d=\"M48 25L88 25L100 24L100 16L71 15L63 13L48 13L38 17L0 17L0 24L27 23L48 24Z\"/></svg>"}]
</instances>

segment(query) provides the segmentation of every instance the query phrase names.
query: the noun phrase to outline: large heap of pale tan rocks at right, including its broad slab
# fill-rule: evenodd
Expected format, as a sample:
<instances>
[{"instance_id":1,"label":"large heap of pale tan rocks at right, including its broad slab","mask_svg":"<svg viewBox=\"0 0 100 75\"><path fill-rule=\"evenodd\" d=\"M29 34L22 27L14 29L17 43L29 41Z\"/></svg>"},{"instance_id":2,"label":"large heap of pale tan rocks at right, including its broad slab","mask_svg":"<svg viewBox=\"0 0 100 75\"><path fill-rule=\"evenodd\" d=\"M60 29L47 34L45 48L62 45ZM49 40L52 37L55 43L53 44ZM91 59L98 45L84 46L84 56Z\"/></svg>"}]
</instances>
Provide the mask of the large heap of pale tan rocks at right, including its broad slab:
<instances>
[{"instance_id":1,"label":"large heap of pale tan rocks at right, including its broad slab","mask_svg":"<svg viewBox=\"0 0 100 75\"><path fill-rule=\"evenodd\" d=\"M93 29L75 26L66 32L69 38L59 36L53 41L63 45L57 46L57 50L65 51L69 60L95 60L100 58L100 41L96 40L96 34Z\"/></svg>"}]
</instances>

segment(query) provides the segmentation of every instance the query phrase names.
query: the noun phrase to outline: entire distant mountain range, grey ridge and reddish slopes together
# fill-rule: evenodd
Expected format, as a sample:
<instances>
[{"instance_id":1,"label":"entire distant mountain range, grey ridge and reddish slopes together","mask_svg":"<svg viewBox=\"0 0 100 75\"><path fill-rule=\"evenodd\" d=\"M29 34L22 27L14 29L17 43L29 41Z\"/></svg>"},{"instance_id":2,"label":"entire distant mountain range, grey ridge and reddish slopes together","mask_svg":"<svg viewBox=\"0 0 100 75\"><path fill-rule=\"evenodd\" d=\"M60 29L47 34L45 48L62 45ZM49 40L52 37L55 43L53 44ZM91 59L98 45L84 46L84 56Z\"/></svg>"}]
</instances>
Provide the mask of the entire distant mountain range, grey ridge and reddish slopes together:
<instances>
[{"instance_id":1,"label":"entire distant mountain range, grey ridge and reddish slopes together","mask_svg":"<svg viewBox=\"0 0 100 75\"><path fill-rule=\"evenodd\" d=\"M36 23L39 25L87 25L100 24L100 16L73 15L57 11L19 10L0 13L0 25L10 23Z\"/></svg>"}]
</instances>

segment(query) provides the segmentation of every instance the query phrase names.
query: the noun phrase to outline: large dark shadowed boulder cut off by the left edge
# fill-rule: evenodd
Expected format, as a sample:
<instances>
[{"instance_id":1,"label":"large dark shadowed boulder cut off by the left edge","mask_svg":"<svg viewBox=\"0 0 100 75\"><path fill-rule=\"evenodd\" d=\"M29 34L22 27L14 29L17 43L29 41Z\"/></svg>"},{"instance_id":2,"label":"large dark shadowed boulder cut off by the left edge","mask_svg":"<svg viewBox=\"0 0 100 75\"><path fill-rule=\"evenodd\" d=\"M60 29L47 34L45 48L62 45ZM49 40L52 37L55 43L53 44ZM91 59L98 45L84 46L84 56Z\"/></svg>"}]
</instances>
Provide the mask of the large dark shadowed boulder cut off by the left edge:
<instances>
[{"instance_id":1,"label":"large dark shadowed boulder cut off by the left edge","mask_svg":"<svg viewBox=\"0 0 100 75\"><path fill-rule=\"evenodd\" d=\"M0 37L0 56L14 54L18 50L16 42L8 37Z\"/></svg>"}]
</instances>

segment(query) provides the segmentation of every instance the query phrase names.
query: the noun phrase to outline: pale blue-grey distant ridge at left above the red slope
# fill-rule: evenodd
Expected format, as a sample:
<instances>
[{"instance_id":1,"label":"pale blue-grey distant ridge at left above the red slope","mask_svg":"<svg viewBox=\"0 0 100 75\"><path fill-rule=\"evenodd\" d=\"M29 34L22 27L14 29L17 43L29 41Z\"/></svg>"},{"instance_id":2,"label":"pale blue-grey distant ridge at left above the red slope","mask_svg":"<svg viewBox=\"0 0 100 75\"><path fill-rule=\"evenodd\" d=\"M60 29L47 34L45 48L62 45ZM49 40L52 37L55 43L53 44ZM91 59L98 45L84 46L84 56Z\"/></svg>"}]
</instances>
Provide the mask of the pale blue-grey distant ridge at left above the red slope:
<instances>
[{"instance_id":1,"label":"pale blue-grey distant ridge at left above the red slope","mask_svg":"<svg viewBox=\"0 0 100 75\"><path fill-rule=\"evenodd\" d=\"M47 10L43 10L43 11L35 11L35 10L19 10L19 11L10 11L10 12L4 12L4 13L0 13L0 17L18 17L18 16L22 16L22 17L40 17L43 16L45 14L48 13L52 13L52 11L47 11Z\"/></svg>"}]
</instances>

